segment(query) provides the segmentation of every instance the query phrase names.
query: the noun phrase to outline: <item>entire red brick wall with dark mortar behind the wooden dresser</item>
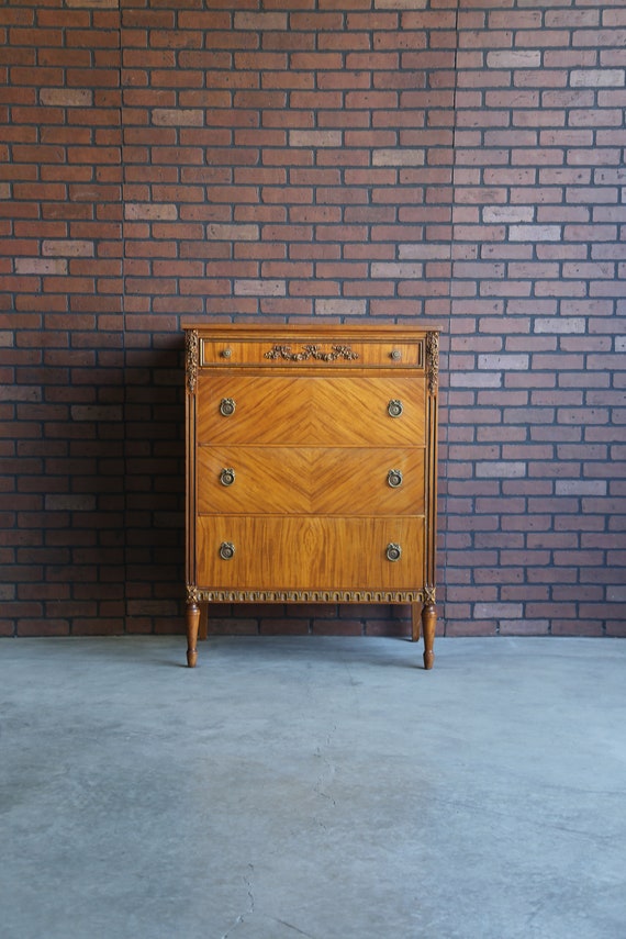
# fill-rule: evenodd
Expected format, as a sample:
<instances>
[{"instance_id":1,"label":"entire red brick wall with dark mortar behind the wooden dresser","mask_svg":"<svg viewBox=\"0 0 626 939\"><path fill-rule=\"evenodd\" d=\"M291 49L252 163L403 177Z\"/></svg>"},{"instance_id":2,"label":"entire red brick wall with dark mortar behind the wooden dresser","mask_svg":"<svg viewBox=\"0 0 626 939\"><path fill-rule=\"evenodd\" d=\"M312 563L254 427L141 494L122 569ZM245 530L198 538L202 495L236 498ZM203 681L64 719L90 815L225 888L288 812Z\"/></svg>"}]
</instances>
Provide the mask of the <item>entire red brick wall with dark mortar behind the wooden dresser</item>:
<instances>
[{"instance_id":1,"label":"entire red brick wall with dark mortar behind the wooden dresser","mask_svg":"<svg viewBox=\"0 0 626 939\"><path fill-rule=\"evenodd\" d=\"M187 316L440 325L441 629L624 634L622 5L4 8L0 633L182 627Z\"/></svg>"}]
</instances>

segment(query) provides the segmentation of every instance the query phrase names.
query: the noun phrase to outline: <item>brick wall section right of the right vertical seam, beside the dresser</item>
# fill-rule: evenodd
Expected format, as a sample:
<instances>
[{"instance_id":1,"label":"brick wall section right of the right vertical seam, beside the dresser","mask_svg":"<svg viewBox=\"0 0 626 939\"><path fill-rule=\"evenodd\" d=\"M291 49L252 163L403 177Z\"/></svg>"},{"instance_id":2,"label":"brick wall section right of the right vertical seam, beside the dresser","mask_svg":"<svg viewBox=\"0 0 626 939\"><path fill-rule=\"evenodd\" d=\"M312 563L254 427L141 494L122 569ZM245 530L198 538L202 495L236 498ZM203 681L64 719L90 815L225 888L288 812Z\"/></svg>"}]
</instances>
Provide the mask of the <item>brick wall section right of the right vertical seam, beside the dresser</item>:
<instances>
[{"instance_id":1,"label":"brick wall section right of the right vertical seam, beside the dresser","mask_svg":"<svg viewBox=\"0 0 626 939\"><path fill-rule=\"evenodd\" d=\"M626 9L458 26L448 628L623 635Z\"/></svg>"}]
</instances>

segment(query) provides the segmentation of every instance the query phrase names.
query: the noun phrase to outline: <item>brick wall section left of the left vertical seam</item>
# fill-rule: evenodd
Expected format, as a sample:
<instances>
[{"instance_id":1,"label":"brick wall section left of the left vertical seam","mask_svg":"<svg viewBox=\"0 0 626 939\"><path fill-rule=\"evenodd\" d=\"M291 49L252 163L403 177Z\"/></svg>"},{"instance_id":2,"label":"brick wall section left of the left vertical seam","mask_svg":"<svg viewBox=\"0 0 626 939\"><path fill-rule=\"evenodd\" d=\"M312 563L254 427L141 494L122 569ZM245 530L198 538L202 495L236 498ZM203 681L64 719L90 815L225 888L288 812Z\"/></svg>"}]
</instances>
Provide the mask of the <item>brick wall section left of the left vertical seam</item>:
<instances>
[{"instance_id":1,"label":"brick wall section left of the left vertical seam","mask_svg":"<svg viewBox=\"0 0 626 939\"><path fill-rule=\"evenodd\" d=\"M115 7L0 11L2 635L124 628Z\"/></svg>"}]
</instances>

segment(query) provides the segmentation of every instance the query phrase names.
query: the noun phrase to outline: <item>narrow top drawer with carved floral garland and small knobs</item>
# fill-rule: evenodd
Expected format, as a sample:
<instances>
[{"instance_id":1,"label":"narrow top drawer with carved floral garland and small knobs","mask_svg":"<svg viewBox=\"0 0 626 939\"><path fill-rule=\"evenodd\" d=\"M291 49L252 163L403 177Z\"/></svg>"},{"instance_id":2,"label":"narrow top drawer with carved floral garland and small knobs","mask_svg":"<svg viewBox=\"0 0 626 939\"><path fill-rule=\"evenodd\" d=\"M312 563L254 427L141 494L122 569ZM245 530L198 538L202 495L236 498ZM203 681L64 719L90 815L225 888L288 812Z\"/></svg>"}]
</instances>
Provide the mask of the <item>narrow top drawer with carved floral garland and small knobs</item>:
<instances>
[{"instance_id":1,"label":"narrow top drawer with carved floral garland and small knobs","mask_svg":"<svg viewBox=\"0 0 626 939\"><path fill-rule=\"evenodd\" d=\"M200 368L424 368L423 338L414 342L340 342L291 338L214 339L200 336Z\"/></svg>"}]
</instances>

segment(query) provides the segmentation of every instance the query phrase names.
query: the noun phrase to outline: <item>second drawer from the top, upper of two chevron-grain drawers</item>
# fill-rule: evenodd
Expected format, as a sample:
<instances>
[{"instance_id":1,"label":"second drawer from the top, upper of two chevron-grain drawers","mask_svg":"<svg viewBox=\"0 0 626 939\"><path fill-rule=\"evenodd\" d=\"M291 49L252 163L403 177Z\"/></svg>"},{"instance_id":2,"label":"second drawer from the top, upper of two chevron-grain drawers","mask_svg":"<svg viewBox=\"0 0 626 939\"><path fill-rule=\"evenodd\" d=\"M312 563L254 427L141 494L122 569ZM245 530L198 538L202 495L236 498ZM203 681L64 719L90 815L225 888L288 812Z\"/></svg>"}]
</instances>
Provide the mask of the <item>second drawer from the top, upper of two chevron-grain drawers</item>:
<instances>
[{"instance_id":1,"label":"second drawer from the top, upper of two chevron-grain drawers","mask_svg":"<svg viewBox=\"0 0 626 939\"><path fill-rule=\"evenodd\" d=\"M370 377L247 376L204 372L198 382L199 444L273 446L422 446L422 382L402 375ZM232 402L228 416L222 402ZM392 417L391 402L402 413Z\"/></svg>"}]
</instances>

